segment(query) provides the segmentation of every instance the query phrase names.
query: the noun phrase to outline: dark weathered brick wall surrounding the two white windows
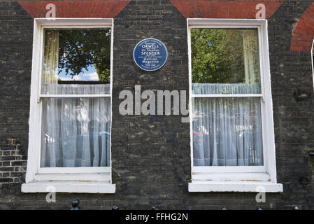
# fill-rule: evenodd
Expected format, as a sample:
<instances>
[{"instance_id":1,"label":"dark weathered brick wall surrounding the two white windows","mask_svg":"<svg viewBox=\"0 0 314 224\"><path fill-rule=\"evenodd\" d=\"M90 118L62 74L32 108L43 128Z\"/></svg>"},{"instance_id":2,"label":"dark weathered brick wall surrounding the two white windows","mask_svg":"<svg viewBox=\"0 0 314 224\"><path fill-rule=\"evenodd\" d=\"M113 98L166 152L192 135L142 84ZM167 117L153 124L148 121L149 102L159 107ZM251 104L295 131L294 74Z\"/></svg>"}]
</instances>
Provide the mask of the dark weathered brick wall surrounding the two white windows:
<instances>
[{"instance_id":1,"label":"dark weathered brick wall surrounding the two white windows","mask_svg":"<svg viewBox=\"0 0 314 224\"><path fill-rule=\"evenodd\" d=\"M314 94L311 52L292 52L292 29L313 1L285 1L269 18L269 45L278 182L284 193L188 193L190 126L180 116L120 116L118 93L134 89L188 90L186 19L169 0L131 1L115 18L112 159L114 195L22 194L27 160L32 19L15 1L0 3L0 209L314 209ZM134 64L138 41L154 37L169 50L159 71ZM305 96L305 97L301 97ZM312 160L313 161L313 160ZM306 183L302 186L299 182Z\"/></svg>"}]
</instances>

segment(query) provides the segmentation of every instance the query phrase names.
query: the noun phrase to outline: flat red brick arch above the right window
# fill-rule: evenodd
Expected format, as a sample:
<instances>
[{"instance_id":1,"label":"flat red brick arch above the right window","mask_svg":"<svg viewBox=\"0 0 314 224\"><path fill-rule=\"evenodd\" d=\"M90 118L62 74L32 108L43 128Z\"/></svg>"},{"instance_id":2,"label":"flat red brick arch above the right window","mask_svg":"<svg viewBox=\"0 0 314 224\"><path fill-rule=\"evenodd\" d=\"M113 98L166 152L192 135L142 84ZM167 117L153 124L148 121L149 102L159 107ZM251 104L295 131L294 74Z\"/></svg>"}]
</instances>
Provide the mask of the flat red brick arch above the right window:
<instances>
[{"instance_id":1,"label":"flat red brick arch above the right window","mask_svg":"<svg viewBox=\"0 0 314 224\"><path fill-rule=\"evenodd\" d=\"M185 18L232 18L255 19L258 3L266 8L266 19L279 8L283 0L242 0L242 1L215 1L215 0L170 0Z\"/></svg>"}]
</instances>

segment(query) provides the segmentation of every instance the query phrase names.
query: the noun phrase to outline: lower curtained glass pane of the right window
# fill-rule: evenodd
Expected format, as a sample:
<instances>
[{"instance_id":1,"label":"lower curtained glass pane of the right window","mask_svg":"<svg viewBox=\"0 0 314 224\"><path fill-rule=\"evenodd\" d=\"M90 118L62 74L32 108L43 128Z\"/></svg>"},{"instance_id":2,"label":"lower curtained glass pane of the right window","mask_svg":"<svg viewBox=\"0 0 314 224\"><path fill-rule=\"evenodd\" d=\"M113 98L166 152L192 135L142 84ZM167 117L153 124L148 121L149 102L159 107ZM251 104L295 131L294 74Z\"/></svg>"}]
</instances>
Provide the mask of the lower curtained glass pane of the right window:
<instances>
[{"instance_id":1,"label":"lower curtained glass pane of the right window","mask_svg":"<svg viewBox=\"0 0 314 224\"><path fill-rule=\"evenodd\" d=\"M196 98L194 166L262 166L259 98Z\"/></svg>"}]
</instances>

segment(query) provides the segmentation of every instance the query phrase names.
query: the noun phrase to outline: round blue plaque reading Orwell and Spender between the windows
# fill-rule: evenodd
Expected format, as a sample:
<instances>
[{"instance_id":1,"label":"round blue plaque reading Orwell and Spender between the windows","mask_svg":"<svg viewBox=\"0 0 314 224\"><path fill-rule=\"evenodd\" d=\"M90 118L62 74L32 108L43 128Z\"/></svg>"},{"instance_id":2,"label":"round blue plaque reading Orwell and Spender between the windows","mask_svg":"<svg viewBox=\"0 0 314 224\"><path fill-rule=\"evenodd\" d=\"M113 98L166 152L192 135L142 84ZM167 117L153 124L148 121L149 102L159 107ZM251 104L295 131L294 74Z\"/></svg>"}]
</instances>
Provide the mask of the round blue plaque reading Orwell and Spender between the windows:
<instances>
[{"instance_id":1,"label":"round blue plaque reading Orwell and Spender between the windows","mask_svg":"<svg viewBox=\"0 0 314 224\"><path fill-rule=\"evenodd\" d=\"M133 52L134 62L145 71L160 69L168 59L166 45L155 38L146 38L138 42Z\"/></svg>"}]
</instances>

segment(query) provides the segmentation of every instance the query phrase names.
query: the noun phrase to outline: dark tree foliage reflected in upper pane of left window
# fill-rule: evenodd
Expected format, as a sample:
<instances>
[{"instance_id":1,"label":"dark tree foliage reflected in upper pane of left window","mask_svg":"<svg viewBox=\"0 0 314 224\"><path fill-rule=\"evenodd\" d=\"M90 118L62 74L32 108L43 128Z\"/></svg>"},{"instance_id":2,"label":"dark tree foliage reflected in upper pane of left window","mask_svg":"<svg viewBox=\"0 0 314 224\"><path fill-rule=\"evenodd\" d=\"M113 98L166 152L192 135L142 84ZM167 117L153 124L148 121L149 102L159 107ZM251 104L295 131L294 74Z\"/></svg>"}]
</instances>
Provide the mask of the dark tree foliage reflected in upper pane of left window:
<instances>
[{"instance_id":1,"label":"dark tree foliage reflected in upper pane of left window","mask_svg":"<svg viewBox=\"0 0 314 224\"><path fill-rule=\"evenodd\" d=\"M99 81L110 80L110 29L59 30L59 71L72 77L94 64Z\"/></svg>"}]
</instances>

